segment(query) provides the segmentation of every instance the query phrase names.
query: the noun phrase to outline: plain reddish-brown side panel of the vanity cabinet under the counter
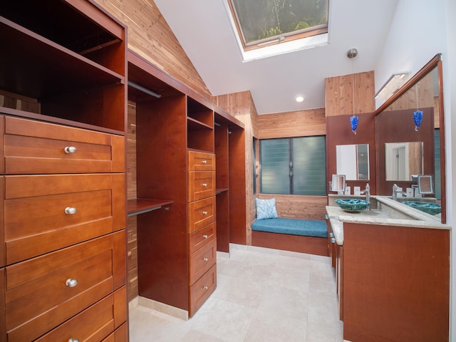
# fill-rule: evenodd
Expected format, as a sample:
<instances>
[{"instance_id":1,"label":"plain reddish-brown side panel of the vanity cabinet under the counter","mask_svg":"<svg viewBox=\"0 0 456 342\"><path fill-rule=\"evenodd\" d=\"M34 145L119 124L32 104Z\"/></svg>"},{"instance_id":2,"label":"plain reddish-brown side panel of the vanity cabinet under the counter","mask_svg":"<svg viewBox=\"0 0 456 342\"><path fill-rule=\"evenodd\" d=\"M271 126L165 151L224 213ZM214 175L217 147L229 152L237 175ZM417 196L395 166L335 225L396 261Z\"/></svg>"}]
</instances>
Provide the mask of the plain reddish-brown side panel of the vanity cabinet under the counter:
<instances>
[{"instance_id":1,"label":"plain reddish-brown side panel of the vanity cabinet under the counter","mask_svg":"<svg viewBox=\"0 0 456 342\"><path fill-rule=\"evenodd\" d=\"M448 341L450 230L343 223L347 341Z\"/></svg>"}]
</instances>

